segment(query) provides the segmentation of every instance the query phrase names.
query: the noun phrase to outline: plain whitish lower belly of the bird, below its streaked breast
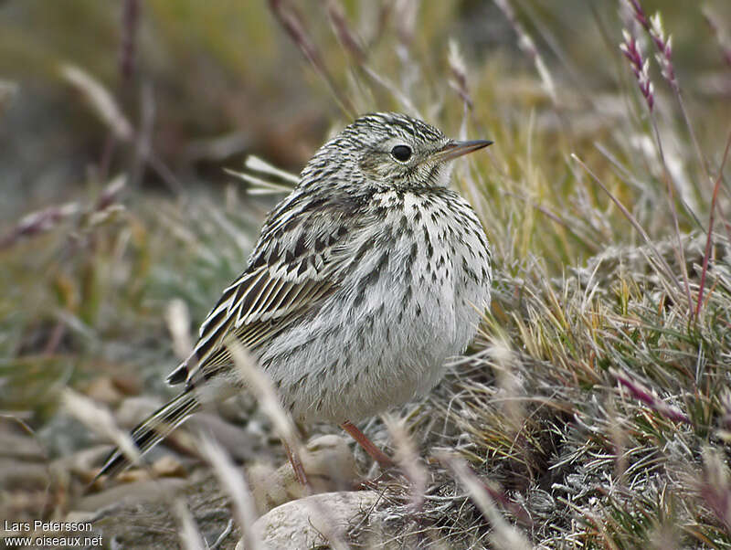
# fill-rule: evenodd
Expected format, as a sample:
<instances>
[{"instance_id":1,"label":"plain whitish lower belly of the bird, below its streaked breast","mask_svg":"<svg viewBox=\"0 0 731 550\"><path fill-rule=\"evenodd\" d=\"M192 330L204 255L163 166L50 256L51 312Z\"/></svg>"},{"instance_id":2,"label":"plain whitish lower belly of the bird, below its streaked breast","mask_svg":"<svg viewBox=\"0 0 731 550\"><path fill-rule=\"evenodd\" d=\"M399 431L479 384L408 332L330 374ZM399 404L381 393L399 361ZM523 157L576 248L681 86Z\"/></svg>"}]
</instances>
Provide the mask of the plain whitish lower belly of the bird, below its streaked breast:
<instances>
[{"instance_id":1,"label":"plain whitish lower belly of the bird, below its streaked breast","mask_svg":"<svg viewBox=\"0 0 731 550\"><path fill-rule=\"evenodd\" d=\"M341 308L334 301L308 323L309 334L289 333L286 343L270 346L280 354L262 355L294 418L359 420L440 380L445 361L461 351L454 345L454 310L436 300L443 289L422 289L408 307L399 305L399 291L398 284L376 286L373 298L382 300L375 308Z\"/></svg>"}]
</instances>

